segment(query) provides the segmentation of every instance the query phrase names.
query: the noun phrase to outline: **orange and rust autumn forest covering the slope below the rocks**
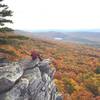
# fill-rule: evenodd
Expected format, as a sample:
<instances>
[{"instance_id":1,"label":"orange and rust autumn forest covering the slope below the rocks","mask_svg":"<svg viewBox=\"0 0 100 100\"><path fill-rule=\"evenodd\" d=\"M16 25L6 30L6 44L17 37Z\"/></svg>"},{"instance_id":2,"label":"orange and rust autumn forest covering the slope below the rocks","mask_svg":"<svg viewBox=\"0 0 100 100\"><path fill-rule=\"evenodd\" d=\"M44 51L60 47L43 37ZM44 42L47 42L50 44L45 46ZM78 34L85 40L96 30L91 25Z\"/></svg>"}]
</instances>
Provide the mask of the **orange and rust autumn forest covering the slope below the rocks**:
<instances>
[{"instance_id":1,"label":"orange and rust autumn forest covering the slope below the rocks","mask_svg":"<svg viewBox=\"0 0 100 100\"><path fill-rule=\"evenodd\" d=\"M56 69L54 82L64 100L100 100L100 49L0 33L0 61L31 59L37 50Z\"/></svg>"}]
</instances>

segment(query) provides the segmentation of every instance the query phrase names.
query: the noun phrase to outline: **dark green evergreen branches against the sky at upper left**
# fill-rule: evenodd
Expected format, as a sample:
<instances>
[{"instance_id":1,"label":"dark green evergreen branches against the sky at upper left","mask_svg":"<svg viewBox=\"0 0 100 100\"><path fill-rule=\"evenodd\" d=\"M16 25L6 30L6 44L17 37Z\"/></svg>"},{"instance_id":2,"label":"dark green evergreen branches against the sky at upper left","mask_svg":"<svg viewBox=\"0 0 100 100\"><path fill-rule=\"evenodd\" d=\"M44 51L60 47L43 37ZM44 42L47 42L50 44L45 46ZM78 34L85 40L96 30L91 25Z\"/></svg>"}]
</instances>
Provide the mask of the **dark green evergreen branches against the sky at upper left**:
<instances>
[{"instance_id":1,"label":"dark green evergreen branches against the sky at upper left","mask_svg":"<svg viewBox=\"0 0 100 100\"><path fill-rule=\"evenodd\" d=\"M8 19L8 17L12 16L12 11L9 10L8 5L2 3L3 0L0 0L0 31L12 31L11 28L5 27L6 23L13 23L12 20Z\"/></svg>"}]
</instances>

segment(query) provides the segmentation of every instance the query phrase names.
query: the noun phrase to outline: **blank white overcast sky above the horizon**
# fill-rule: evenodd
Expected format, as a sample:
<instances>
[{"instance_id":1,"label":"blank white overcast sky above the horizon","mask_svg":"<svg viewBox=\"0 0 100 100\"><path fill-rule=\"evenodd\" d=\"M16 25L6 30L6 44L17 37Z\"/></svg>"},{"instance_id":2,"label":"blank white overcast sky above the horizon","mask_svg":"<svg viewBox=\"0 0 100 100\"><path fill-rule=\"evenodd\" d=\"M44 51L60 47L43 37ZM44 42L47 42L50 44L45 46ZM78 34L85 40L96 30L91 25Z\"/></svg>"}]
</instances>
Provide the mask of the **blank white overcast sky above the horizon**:
<instances>
[{"instance_id":1,"label":"blank white overcast sky above the horizon","mask_svg":"<svg viewBox=\"0 0 100 100\"><path fill-rule=\"evenodd\" d=\"M100 29L100 0L5 0L21 30Z\"/></svg>"}]
</instances>

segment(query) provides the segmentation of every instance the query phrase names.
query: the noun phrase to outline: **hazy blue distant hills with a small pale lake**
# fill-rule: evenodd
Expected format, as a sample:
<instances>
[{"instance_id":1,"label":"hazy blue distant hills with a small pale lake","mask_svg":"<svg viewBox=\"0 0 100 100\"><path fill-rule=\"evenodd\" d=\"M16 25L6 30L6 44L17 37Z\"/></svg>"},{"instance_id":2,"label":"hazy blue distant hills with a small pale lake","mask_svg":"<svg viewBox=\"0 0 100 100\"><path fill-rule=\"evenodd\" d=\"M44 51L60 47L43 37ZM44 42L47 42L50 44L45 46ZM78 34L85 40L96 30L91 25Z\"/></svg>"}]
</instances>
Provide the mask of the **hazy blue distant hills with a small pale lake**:
<instances>
[{"instance_id":1,"label":"hazy blue distant hills with a small pale lake","mask_svg":"<svg viewBox=\"0 0 100 100\"><path fill-rule=\"evenodd\" d=\"M64 42L81 43L85 45L100 48L100 32L22 32L23 35L49 38L52 40L60 40Z\"/></svg>"}]
</instances>

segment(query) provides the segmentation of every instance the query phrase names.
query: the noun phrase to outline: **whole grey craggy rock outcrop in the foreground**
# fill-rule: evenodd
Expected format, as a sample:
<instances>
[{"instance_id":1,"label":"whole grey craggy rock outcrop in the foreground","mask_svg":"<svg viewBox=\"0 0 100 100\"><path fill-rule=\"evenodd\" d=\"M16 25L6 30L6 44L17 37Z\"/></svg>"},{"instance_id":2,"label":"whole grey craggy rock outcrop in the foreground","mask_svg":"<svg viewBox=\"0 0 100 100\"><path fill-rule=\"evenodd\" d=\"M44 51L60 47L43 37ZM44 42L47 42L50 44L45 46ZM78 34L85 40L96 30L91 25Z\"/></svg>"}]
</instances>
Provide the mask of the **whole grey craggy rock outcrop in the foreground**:
<instances>
[{"instance_id":1,"label":"whole grey craggy rock outcrop in the foreground","mask_svg":"<svg viewBox=\"0 0 100 100\"><path fill-rule=\"evenodd\" d=\"M0 100L63 100L50 61L23 60L0 67Z\"/></svg>"}]
</instances>

